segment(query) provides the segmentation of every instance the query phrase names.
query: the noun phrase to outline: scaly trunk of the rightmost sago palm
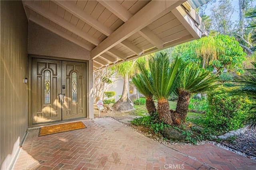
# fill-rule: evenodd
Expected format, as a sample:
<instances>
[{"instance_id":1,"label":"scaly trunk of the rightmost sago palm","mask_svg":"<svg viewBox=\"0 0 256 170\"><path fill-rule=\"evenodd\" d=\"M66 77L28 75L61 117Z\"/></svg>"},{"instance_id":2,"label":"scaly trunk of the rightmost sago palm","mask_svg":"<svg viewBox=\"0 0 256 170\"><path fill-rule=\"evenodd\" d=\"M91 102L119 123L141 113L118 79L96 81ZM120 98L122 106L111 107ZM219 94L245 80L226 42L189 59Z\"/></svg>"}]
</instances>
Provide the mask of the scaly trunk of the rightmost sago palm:
<instances>
[{"instance_id":1,"label":"scaly trunk of the rightmost sago palm","mask_svg":"<svg viewBox=\"0 0 256 170\"><path fill-rule=\"evenodd\" d=\"M180 120L185 123L185 119L188 113L188 104L190 100L190 93L181 91L179 92L176 112L179 114Z\"/></svg>"}]
</instances>

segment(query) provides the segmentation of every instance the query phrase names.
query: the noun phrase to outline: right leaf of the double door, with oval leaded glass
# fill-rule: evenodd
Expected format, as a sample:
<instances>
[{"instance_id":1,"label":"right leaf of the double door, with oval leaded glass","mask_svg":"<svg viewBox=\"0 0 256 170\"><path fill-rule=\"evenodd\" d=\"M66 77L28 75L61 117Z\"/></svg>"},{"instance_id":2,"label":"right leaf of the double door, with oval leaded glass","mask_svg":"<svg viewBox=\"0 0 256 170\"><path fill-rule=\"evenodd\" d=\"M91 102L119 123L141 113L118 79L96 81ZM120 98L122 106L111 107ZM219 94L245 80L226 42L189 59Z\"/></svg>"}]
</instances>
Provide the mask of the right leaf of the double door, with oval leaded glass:
<instances>
[{"instance_id":1,"label":"right leaf of the double door, with oval leaded glass","mask_svg":"<svg viewBox=\"0 0 256 170\"><path fill-rule=\"evenodd\" d=\"M85 63L62 62L62 119L85 117Z\"/></svg>"}]
</instances>

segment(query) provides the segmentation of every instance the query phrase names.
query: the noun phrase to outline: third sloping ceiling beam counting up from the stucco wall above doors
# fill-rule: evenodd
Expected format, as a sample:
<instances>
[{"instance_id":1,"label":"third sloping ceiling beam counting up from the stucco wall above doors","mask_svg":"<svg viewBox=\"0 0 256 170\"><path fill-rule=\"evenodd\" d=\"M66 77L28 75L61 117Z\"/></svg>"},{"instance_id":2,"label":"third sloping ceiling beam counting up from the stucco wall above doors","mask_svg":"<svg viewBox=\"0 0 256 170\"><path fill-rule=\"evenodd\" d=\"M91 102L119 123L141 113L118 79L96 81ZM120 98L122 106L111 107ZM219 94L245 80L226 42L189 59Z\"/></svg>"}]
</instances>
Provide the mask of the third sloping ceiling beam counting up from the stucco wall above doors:
<instances>
[{"instance_id":1,"label":"third sloping ceiling beam counting up from the stucco wall above doors","mask_svg":"<svg viewBox=\"0 0 256 170\"><path fill-rule=\"evenodd\" d=\"M80 20L88 23L95 29L98 29L100 32L104 33L105 35L109 36L112 34L114 31L104 25L103 23L99 22L80 8L78 8L76 5L72 4L71 2L68 1L60 1L60 0L52 0L54 3L56 3L58 6L61 6Z\"/></svg>"}]
</instances>

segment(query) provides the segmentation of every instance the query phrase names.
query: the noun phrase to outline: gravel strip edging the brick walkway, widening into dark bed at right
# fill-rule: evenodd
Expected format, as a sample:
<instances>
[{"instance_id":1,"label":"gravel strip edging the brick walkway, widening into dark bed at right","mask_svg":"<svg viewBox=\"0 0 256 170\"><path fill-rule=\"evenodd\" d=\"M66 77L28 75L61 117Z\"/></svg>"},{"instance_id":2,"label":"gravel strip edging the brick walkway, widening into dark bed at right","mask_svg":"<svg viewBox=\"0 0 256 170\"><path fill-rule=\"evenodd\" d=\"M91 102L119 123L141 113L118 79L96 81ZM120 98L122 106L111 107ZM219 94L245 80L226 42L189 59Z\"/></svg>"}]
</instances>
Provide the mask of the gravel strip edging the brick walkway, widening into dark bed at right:
<instances>
[{"instance_id":1,"label":"gravel strip edging the brick walkway, widening into dark bed at right","mask_svg":"<svg viewBox=\"0 0 256 170\"><path fill-rule=\"evenodd\" d=\"M113 119L113 118L112 117L94 118L94 120L97 120L97 119ZM118 123L126 127L129 127L130 129L146 137L153 139L156 142L162 143L163 145L188 145L188 146L194 145L191 143L184 143L184 142L168 142L150 133L142 132L134 127L131 127L126 123L122 123L116 119L113 119L113 120L117 121ZM242 156L256 160L256 129L255 128L247 129L245 133L238 135L234 140L225 140L225 141L221 141L220 143L214 142L214 141L198 141L196 145L203 145L205 143L211 143L223 149L230 150Z\"/></svg>"}]
</instances>

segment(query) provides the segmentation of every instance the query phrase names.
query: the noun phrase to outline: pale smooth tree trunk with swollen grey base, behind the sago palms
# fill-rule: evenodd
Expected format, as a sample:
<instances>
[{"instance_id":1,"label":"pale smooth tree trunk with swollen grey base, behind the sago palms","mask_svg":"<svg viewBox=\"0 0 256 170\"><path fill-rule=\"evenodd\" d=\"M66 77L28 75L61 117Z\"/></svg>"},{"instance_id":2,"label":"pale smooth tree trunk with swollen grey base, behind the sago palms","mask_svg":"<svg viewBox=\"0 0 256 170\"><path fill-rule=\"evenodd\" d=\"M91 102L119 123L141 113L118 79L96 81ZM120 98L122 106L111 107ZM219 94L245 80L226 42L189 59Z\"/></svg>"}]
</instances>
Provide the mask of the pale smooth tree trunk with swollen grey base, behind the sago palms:
<instances>
[{"instance_id":1,"label":"pale smooth tree trunk with swollen grey base, behind the sago palms","mask_svg":"<svg viewBox=\"0 0 256 170\"><path fill-rule=\"evenodd\" d=\"M129 76L128 72L124 75L124 88L121 98L112 106L112 109L116 112L122 113L134 110L133 104L128 98L128 83Z\"/></svg>"}]
</instances>

